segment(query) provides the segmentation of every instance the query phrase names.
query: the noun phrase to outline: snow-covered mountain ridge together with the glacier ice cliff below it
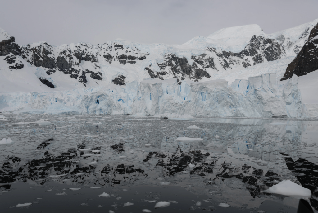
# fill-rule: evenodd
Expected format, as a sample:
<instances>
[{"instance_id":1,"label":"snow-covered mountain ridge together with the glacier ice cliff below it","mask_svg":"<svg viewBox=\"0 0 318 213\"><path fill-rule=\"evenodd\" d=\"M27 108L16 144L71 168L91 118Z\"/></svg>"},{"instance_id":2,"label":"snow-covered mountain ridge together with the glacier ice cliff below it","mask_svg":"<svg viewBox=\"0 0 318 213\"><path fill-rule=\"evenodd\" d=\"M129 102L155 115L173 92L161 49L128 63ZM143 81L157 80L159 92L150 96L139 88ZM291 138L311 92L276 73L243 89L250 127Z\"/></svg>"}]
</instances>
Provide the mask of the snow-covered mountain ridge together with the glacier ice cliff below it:
<instances>
[{"instance_id":1,"label":"snow-covered mountain ridge together with the glacier ice cliff below it","mask_svg":"<svg viewBox=\"0 0 318 213\"><path fill-rule=\"evenodd\" d=\"M182 45L19 46L0 29L0 111L306 117L297 79L277 80L317 22L230 27Z\"/></svg>"}]
</instances>

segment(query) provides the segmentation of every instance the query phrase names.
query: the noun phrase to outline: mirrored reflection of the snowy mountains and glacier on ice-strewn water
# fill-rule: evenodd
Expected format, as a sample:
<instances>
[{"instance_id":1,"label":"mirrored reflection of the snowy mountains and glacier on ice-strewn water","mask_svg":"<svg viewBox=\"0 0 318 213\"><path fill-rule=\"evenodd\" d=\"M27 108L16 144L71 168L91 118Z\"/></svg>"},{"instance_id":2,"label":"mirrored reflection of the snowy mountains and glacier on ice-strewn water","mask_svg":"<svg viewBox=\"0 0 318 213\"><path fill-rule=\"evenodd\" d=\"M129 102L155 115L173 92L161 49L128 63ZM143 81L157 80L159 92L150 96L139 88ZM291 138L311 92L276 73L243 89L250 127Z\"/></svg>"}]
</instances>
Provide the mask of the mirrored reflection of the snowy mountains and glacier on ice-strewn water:
<instances>
[{"instance_id":1,"label":"mirrored reflection of the snowy mountains and glacier on ice-strewn water","mask_svg":"<svg viewBox=\"0 0 318 213\"><path fill-rule=\"evenodd\" d=\"M15 143L0 145L2 191L10 191L14 182L114 189L181 186L216 203L256 211L264 200L296 207L295 198L262 192L281 180L293 180L312 191L310 201L317 208L318 168L302 155L308 149L302 135L317 121L5 116L10 122L0 124L1 137ZM54 126L19 125L21 116L24 122L43 119ZM192 125L200 129L187 129ZM204 140L180 142L177 137ZM314 152L309 155L316 159Z\"/></svg>"}]
</instances>

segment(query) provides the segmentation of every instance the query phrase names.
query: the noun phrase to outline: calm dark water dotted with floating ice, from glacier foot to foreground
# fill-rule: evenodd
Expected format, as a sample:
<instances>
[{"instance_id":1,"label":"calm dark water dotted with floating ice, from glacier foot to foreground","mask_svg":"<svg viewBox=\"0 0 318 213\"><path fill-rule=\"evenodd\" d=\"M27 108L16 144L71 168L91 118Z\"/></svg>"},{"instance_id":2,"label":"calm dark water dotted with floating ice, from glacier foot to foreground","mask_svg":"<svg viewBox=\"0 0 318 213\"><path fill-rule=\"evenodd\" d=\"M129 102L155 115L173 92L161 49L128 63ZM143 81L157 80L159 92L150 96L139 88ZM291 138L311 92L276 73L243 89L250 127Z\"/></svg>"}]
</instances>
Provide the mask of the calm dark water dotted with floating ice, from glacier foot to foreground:
<instances>
[{"instance_id":1,"label":"calm dark water dotted with floating ice, from glacier foot to foreground","mask_svg":"<svg viewBox=\"0 0 318 213\"><path fill-rule=\"evenodd\" d=\"M318 121L1 115L1 212L296 212L299 198L262 192L281 180L318 209Z\"/></svg>"}]
</instances>

